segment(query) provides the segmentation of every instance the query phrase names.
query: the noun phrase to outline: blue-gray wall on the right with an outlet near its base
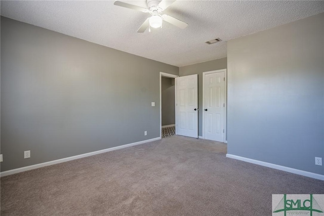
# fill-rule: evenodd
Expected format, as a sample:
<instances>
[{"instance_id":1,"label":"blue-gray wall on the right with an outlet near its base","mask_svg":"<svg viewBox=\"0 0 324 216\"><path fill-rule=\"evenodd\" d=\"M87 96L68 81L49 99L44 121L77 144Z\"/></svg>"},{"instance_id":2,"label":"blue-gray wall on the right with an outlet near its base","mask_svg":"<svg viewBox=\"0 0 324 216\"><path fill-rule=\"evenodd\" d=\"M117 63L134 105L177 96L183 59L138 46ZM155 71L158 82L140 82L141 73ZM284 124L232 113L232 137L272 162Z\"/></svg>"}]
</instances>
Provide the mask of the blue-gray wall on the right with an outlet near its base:
<instances>
[{"instance_id":1,"label":"blue-gray wall on the right with an outlet near its base","mask_svg":"<svg viewBox=\"0 0 324 216\"><path fill-rule=\"evenodd\" d=\"M228 154L324 174L324 14L227 43Z\"/></svg>"}]
</instances>

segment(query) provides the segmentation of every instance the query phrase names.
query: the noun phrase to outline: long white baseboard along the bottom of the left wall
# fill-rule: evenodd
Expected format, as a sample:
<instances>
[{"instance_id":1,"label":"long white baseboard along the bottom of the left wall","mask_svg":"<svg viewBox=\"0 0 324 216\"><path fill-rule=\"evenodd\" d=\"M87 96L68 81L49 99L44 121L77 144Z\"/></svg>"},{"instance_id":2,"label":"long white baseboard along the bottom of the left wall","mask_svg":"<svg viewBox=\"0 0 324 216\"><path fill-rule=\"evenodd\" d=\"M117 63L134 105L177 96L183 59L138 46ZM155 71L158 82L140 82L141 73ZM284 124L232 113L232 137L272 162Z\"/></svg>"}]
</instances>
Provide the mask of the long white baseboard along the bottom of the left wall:
<instances>
[{"instance_id":1,"label":"long white baseboard along the bottom of the left wall","mask_svg":"<svg viewBox=\"0 0 324 216\"><path fill-rule=\"evenodd\" d=\"M79 159L79 158L89 157L89 156L92 156L92 155L98 155L98 154L101 154L101 153L110 152L110 151L114 151L114 150L117 150L117 149L124 149L124 148L127 148L127 147L136 146L136 145L140 145L140 144L143 144L143 143L146 143L146 142L151 142L151 141L155 141L155 140L159 140L159 139L161 139L161 137L156 137L156 138L153 138L153 139L147 139L147 140L143 140L143 141L133 142L133 143L129 143L129 144L126 144L126 145L123 145L123 146L116 146L116 147L112 147L112 148L109 148L109 149L103 149L103 150L99 150L99 151L96 151L96 152L89 152L89 153L82 154L82 155L75 155L75 156L72 156L72 157L62 158L62 159L49 161L49 162L45 162L45 163L34 164L34 165L25 166L25 167L21 167L21 168L17 168L17 169L11 169L11 170L1 172L0 176L2 177L2 176L6 176L6 175L12 175L12 174L15 174L15 173L18 173L18 172L24 172L24 171L27 171L27 170L37 169L37 168L41 168L41 167L44 167L44 166L50 166L50 165L63 163L63 162L66 162L66 161L71 161L71 160L75 160L75 159Z\"/></svg>"}]
</instances>

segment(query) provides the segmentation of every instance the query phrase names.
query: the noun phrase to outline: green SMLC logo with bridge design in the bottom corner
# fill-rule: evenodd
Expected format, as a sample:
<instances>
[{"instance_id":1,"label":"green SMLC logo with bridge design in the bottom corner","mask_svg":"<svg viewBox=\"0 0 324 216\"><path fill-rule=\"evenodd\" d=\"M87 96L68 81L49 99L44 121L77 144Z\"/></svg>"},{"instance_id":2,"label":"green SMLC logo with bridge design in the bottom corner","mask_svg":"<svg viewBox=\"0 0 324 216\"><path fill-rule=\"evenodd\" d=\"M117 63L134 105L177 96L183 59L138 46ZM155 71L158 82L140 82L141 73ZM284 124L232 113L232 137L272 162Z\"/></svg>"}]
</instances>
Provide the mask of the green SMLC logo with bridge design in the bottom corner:
<instances>
[{"instance_id":1,"label":"green SMLC logo with bridge design in the bottom corner","mask_svg":"<svg viewBox=\"0 0 324 216\"><path fill-rule=\"evenodd\" d=\"M309 199L287 199L287 194L280 200L278 205L275 207L273 213L284 211L285 216L287 211L309 211L310 216L313 212L323 213L323 210L318 205L312 194L309 194Z\"/></svg>"}]
</instances>

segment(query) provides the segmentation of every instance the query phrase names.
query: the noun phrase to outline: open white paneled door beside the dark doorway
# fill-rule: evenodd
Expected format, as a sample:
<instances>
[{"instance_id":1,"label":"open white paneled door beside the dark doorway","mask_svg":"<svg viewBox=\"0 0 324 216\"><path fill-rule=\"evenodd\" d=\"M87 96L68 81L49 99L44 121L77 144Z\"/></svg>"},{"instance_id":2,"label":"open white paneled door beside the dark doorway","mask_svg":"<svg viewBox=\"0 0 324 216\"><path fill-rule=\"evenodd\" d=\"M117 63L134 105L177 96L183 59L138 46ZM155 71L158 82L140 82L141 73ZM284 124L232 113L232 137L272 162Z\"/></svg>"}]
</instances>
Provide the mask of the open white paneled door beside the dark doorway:
<instances>
[{"instance_id":1,"label":"open white paneled door beside the dark doorway","mask_svg":"<svg viewBox=\"0 0 324 216\"><path fill-rule=\"evenodd\" d=\"M176 134L198 138L198 75L176 78Z\"/></svg>"}]
</instances>

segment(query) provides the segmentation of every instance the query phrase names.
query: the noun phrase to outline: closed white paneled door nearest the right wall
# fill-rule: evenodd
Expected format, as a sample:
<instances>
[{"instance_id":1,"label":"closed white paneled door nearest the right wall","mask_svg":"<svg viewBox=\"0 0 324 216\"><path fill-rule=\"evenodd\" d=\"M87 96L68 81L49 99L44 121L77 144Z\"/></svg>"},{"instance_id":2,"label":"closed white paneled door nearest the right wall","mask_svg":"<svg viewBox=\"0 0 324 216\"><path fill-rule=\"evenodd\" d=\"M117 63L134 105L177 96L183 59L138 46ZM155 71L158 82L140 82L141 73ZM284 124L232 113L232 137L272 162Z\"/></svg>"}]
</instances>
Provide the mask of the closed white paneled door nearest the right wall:
<instances>
[{"instance_id":1,"label":"closed white paneled door nearest the right wall","mask_svg":"<svg viewBox=\"0 0 324 216\"><path fill-rule=\"evenodd\" d=\"M204 138L224 142L225 71L203 73Z\"/></svg>"}]
</instances>

